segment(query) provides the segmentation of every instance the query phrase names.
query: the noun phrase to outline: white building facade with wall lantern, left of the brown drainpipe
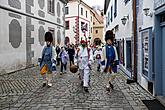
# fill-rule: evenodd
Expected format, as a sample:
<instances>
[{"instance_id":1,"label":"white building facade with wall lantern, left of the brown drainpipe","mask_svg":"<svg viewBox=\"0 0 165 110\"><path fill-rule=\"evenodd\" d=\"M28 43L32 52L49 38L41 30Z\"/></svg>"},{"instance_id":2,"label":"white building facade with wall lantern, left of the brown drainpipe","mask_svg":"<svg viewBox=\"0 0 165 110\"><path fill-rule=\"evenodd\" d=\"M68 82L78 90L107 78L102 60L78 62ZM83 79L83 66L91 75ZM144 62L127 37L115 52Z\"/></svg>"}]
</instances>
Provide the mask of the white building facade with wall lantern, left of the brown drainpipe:
<instances>
[{"instance_id":1,"label":"white building facade with wall lantern, left of the brown drainpipe","mask_svg":"<svg viewBox=\"0 0 165 110\"><path fill-rule=\"evenodd\" d=\"M132 77L132 38L133 38L132 1L105 0L105 32L112 30L120 58L120 69Z\"/></svg>"}]
</instances>

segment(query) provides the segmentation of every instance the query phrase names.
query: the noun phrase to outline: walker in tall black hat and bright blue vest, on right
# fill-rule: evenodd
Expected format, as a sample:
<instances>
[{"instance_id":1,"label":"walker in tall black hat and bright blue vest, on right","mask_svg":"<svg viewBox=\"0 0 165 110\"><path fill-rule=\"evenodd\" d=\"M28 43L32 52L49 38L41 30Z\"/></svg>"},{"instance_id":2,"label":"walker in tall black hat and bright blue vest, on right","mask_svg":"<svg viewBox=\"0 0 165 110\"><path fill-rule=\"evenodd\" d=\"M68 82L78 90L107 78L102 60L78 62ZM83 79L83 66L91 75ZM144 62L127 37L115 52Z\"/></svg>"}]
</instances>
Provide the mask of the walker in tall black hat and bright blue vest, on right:
<instances>
[{"instance_id":1,"label":"walker in tall black hat and bright blue vest, on right","mask_svg":"<svg viewBox=\"0 0 165 110\"><path fill-rule=\"evenodd\" d=\"M105 71L107 74L106 90L110 91L113 89L112 81L117 73L118 55L116 47L113 46L114 34L112 31L107 31L105 34L106 45L102 49L101 64L102 72Z\"/></svg>"}]
</instances>

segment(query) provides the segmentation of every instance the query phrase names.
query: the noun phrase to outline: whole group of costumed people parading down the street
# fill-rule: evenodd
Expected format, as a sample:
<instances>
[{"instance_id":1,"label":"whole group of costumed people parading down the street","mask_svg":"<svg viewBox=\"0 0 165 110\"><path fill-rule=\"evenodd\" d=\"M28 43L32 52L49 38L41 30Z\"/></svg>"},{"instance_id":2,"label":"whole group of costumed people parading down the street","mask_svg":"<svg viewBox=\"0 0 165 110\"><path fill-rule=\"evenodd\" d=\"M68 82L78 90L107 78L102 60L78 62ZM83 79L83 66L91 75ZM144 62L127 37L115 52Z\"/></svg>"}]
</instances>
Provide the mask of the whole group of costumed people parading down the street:
<instances>
[{"instance_id":1,"label":"whole group of costumed people parading down the street","mask_svg":"<svg viewBox=\"0 0 165 110\"><path fill-rule=\"evenodd\" d=\"M117 73L117 65L119 64L116 47L113 46L114 34L112 31L106 32L106 44L101 46L100 43L94 47L89 46L86 40L81 40L80 44L69 44L60 47L52 45L53 37L50 32L45 33L45 42L39 58L40 73L43 77L43 87L52 86L52 72L56 72L56 67L60 66L60 75L67 73L67 67L75 65L78 68L80 85L84 88L85 92L89 92L90 85L90 71L92 63L97 62L97 71L106 73L107 79L106 90L113 89L111 83ZM69 66L68 65L69 62ZM74 67L75 67L74 66ZM58 73L58 72L56 72ZM47 77L47 78L46 78Z\"/></svg>"}]
</instances>

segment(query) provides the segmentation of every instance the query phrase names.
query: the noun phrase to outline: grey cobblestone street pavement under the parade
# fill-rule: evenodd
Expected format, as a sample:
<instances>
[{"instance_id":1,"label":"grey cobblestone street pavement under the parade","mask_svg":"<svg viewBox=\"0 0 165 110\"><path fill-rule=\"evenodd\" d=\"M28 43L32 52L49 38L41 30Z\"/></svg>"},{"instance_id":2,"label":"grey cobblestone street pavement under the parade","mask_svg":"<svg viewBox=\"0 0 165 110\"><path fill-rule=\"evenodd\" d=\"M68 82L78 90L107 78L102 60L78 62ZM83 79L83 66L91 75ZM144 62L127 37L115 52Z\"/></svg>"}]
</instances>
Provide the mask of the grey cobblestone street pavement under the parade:
<instances>
[{"instance_id":1,"label":"grey cobblestone street pavement under the parade","mask_svg":"<svg viewBox=\"0 0 165 110\"><path fill-rule=\"evenodd\" d=\"M85 93L78 74L54 74L53 86L42 87L38 67L0 76L2 110L147 110L141 100L154 99L136 83L126 84L118 73L114 90L105 90L105 74L91 71L91 86Z\"/></svg>"}]
</instances>

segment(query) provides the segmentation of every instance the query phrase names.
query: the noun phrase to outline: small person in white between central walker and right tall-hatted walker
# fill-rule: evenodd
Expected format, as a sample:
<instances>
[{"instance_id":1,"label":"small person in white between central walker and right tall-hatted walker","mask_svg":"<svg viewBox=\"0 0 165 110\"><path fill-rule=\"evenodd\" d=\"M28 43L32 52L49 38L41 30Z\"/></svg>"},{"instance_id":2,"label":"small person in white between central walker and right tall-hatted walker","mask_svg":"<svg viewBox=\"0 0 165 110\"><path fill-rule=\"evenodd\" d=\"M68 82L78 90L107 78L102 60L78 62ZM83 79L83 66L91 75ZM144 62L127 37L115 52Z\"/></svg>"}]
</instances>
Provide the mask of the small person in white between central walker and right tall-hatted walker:
<instances>
[{"instance_id":1,"label":"small person in white between central walker and right tall-hatted walker","mask_svg":"<svg viewBox=\"0 0 165 110\"><path fill-rule=\"evenodd\" d=\"M97 71L100 71L100 66L101 66L101 54L102 54L102 48L98 45L96 46L96 51L94 53L94 57L96 58L97 61Z\"/></svg>"}]
</instances>

